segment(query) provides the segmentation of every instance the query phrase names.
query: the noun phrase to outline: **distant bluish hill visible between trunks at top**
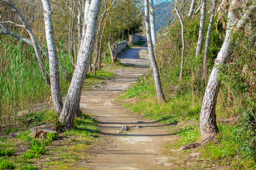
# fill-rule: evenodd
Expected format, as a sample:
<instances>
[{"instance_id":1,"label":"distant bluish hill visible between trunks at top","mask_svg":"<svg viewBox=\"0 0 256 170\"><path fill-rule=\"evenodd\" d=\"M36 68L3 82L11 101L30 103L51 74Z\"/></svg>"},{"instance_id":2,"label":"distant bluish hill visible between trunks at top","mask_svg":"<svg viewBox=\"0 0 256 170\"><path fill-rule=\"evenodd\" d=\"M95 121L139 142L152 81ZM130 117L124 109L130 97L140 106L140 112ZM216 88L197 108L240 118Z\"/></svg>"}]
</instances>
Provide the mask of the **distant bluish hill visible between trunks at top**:
<instances>
[{"instance_id":1,"label":"distant bluish hill visible between trunks at top","mask_svg":"<svg viewBox=\"0 0 256 170\"><path fill-rule=\"evenodd\" d=\"M162 28L165 28L168 23L168 19L172 17L172 10L174 7L171 2L163 3L158 6L155 10L155 27L156 31L162 31Z\"/></svg>"}]
</instances>

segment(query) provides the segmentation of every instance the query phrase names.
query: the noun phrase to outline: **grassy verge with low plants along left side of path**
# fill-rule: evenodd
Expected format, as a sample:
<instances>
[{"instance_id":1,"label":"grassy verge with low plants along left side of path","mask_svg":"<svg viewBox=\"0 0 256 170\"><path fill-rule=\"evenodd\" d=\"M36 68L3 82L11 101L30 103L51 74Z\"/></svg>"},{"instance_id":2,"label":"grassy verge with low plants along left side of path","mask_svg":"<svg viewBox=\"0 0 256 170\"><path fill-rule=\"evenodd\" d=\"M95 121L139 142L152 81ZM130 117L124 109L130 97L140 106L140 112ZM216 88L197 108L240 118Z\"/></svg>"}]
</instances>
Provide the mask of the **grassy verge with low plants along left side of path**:
<instances>
[{"instance_id":1,"label":"grassy verge with low plants along left side of path","mask_svg":"<svg viewBox=\"0 0 256 170\"><path fill-rule=\"evenodd\" d=\"M112 65L109 65L111 70ZM97 71L97 76L88 73L84 89L104 83L115 74ZM82 111L84 112L84 111ZM27 125L26 120L32 119ZM32 126L55 124L58 118L51 110L28 113L19 117L20 128L5 130L0 139L0 169L86 169L85 162L94 157L93 148L101 146L100 130L97 121L88 113L75 118L75 128L59 135L47 134L43 138L32 138ZM25 130L24 130L25 129ZM10 134L18 134L11 137Z\"/></svg>"}]
</instances>

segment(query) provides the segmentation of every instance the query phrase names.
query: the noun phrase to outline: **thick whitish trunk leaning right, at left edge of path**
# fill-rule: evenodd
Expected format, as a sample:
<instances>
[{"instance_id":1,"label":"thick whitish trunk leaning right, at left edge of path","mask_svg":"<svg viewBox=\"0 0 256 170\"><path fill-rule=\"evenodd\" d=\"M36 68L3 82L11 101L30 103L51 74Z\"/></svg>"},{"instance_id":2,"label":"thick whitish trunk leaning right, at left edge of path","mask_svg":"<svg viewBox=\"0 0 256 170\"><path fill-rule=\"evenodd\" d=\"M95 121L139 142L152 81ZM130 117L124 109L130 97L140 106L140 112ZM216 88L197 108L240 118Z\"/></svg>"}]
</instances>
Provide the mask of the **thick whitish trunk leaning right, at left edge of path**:
<instances>
[{"instance_id":1,"label":"thick whitish trunk leaning right, at left edge of path","mask_svg":"<svg viewBox=\"0 0 256 170\"><path fill-rule=\"evenodd\" d=\"M59 120L65 130L75 127L74 118L77 104L84 85L85 76L92 57L94 36L97 29L98 13L100 12L101 0L92 0L90 4L87 28L82 30L82 41L79 49L73 78L68 89L68 94L60 114Z\"/></svg>"}]
</instances>

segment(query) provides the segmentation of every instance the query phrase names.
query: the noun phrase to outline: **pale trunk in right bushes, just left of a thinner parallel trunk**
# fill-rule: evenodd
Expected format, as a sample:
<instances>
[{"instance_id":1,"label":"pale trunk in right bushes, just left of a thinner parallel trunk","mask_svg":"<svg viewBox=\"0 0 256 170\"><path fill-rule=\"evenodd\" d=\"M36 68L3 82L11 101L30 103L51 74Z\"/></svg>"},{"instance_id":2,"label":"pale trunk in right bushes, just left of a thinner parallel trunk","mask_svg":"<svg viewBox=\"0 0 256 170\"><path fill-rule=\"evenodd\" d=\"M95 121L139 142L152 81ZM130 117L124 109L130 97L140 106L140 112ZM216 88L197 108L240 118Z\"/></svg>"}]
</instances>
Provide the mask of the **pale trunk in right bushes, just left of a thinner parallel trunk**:
<instances>
[{"instance_id":1,"label":"pale trunk in right bushes, just left of a thinner parallel trunk","mask_svg":"<svg viewBox=\"0 0 256 170\"><path fill-rule=\"evenodd\" d=\"M206 6L207 0L202 0L199 37L196 46L196 58L201 54L203 48Z\"/></svg>"}]
</instances>

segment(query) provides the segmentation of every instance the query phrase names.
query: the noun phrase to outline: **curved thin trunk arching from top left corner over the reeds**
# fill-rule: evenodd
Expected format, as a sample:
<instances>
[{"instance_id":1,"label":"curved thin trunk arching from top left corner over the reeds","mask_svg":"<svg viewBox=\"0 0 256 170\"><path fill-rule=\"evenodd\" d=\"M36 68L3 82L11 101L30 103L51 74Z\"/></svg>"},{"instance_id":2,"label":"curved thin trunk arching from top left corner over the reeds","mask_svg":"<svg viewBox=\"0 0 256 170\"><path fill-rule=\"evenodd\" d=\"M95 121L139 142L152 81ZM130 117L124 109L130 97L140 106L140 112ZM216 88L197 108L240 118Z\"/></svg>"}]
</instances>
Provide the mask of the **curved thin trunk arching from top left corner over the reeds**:
<instances>
[{"instance_id":1,"label":"curved thin trunk arching from top left corner over the reeds","mask_svg":"<svg viewBox=\"0 0 256 170\"><path fill-rule=\"evenodd\" d=\"M32 41L33 48L35 50L36 59L38 59L38 62L39 62L39 67L40 67L42 76L43 76L44 80L46 81L46 84L48 86L51 86L49 75L47 74L46 67L44 65L44 61L43 61L41 53L40 53L38 42L36 41L35 35L34 35L33 31L31 30L30 26L27 24L26 20L24 19L22 14L20 14L19 10L13 5L13 3L11 3L10 1L6 1L6 0L0 0L0 2L5 3L6 5L13 8L13 11L20 19L20 22L22 22L22 24L24 25L24 28L26 29L28 35L30 35L30 39Z\"/></svg>"}]
</instances>

